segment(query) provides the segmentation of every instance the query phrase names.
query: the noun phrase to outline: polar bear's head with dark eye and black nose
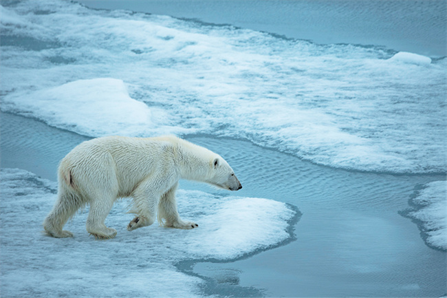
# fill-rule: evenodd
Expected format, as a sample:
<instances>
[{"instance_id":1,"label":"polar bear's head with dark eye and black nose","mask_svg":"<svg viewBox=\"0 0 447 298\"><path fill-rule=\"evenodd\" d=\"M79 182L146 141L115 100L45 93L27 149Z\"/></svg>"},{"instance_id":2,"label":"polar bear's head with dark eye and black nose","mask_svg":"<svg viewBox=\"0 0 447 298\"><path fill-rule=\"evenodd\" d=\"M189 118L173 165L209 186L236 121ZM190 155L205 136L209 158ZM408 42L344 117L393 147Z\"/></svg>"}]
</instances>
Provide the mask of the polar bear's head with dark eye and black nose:
<instances>
[{"instance_id":1,"label":"polar bear's head with dark eye and black nose","mask_svg":"<svg viewBox=\"0 0 447 298\"><path fill-rule=\"evenodd\" d=\"M242 188L241 182L237 180L235 171L231 169L230 164L220 156L212 159L211 175L208 183L219 187L219 189L228 189L230 191L239 191Z\"/></svg>"}]
</instances>

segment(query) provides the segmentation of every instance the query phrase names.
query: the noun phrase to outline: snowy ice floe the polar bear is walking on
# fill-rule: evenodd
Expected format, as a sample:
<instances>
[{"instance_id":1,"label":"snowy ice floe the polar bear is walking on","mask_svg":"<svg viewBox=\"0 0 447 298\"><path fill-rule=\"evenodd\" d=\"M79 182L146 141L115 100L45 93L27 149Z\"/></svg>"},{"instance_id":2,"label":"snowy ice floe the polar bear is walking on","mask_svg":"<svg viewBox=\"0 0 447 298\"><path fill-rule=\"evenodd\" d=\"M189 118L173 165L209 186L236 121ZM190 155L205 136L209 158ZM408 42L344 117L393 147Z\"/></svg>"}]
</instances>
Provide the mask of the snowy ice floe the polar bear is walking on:
<instances>
[{"instance_id":1,"label":"snowy ice floe the polar bear is walking on","mask_svg":"<svg viewBox=\"0 0 447 298\"><path fill-rule=\"evenodd\" d=\"M127 232L127 202L118 202L106 224L109 241L85 231L87 213L67 223L74 238L41 233L56 200L56 183L19 169L1 170L2 297L195 297L203 280L179 272L184 259L234 259L290 237L296 215L286 204L257 198L219 197L201 191L177 195L179 212L199 228L157 225ZM20 282L18 282L20 281Z\"/></svg>"}]
</instances>

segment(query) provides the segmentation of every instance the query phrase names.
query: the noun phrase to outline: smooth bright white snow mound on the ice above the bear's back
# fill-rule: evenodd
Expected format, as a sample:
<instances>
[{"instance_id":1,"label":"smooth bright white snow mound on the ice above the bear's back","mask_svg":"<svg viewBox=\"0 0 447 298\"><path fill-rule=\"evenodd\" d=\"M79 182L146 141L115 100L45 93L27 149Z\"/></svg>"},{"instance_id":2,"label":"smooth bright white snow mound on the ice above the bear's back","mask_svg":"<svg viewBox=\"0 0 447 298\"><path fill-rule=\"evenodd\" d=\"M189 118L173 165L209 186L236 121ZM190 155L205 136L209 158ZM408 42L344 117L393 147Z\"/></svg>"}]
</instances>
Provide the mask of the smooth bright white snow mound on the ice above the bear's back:
<instances>
[{"instance_id":1,"label":"smooth bright white snow mound on the ice above the bear's back","mask_svg":"<svg viewBox=\"0 0 447 298\"><path fill-rule=\"evenodd\" d=\"M58 87L25 92L3 100L3 111L32 115L52 126L87 136L146 134L162 130L155 123L164 117L129 96L122 80L94 78L78 80Z\"/></svg>"}]
</instances>

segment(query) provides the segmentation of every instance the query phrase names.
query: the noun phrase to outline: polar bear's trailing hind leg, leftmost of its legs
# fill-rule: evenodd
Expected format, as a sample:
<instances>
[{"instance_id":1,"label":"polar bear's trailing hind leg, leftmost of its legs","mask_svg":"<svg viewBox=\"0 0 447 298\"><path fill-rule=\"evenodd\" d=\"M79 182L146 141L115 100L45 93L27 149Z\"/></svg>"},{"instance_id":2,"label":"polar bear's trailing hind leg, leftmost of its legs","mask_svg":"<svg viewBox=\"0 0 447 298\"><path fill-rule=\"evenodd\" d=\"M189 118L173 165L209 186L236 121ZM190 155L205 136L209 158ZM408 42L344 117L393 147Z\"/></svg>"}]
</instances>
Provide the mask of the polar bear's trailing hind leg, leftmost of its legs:
<instances>
[{"instance_id":1,"label":"polar bear's trailing hind leg, leftmost of its legs","mask_svg":"<svg viewBox=\"0 0 447 298\"><path fill-rule=\"evenodd\" d=\"M67 184L67 178L65 176L60 177L58 200L54 204L50 214L43 221L45 232L57 238L73 237L71 232L63 231L62 228L67 220L73 217L76 211L83 205L85 205L85 202L83 202L76 190L73 189L72 180L69 180L69 184Z\"/></svg>"}]
</instances>

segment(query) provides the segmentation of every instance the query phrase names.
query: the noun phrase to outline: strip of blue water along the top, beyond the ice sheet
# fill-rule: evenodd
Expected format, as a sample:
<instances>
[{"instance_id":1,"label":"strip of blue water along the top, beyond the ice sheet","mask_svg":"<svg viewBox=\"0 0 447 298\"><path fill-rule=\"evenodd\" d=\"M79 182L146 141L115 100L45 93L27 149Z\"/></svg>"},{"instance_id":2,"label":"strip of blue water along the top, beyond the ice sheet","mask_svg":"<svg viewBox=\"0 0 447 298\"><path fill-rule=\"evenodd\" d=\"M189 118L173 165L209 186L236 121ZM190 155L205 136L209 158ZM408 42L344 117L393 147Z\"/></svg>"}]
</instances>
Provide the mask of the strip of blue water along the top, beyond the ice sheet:
<instances>
[{"instance_id":1,"label":"strip of blue water along the top, beyond the ice sheet","mask_svg":"<svg viewBox=\"0 0 447 298\"><path fill-rule=\"evenodd\" d=\"M78 0L91 8L166 14L205 23L232 24L315 43L384 45L446 56L444 0Z\"/></svg>"}]
</instances>

